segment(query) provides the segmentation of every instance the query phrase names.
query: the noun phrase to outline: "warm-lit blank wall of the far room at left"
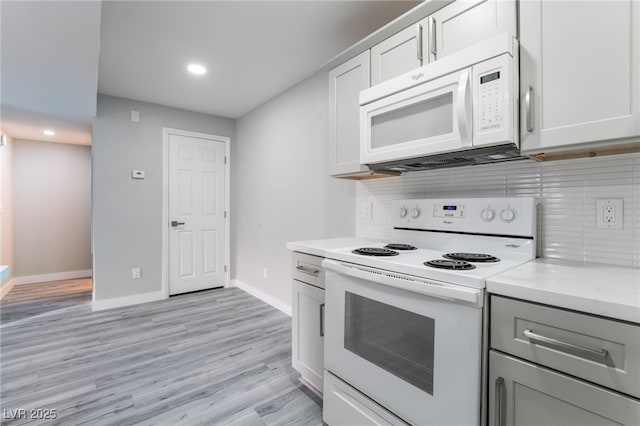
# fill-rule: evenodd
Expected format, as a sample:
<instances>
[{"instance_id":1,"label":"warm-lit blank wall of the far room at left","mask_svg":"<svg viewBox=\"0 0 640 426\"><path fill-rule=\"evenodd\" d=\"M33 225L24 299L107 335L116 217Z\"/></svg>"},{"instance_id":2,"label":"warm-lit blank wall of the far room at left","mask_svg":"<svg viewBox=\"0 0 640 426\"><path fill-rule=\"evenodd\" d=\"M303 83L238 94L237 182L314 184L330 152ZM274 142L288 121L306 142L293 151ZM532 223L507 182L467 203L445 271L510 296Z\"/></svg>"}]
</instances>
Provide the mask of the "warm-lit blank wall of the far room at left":
<instances>
[{"instance_id":1,"label":"warm-lit blank wall of the far room at left","mask_svg":"<svg viewBox=\"0 0 640 426\"><path fill-rule=\"evenodd\" d=\"M91 147L15 140L14 276L91 270ZM55 276L55 275L54 275ZM37 280L37 279L36 279Z\"/></svg>"}]
</instances>

